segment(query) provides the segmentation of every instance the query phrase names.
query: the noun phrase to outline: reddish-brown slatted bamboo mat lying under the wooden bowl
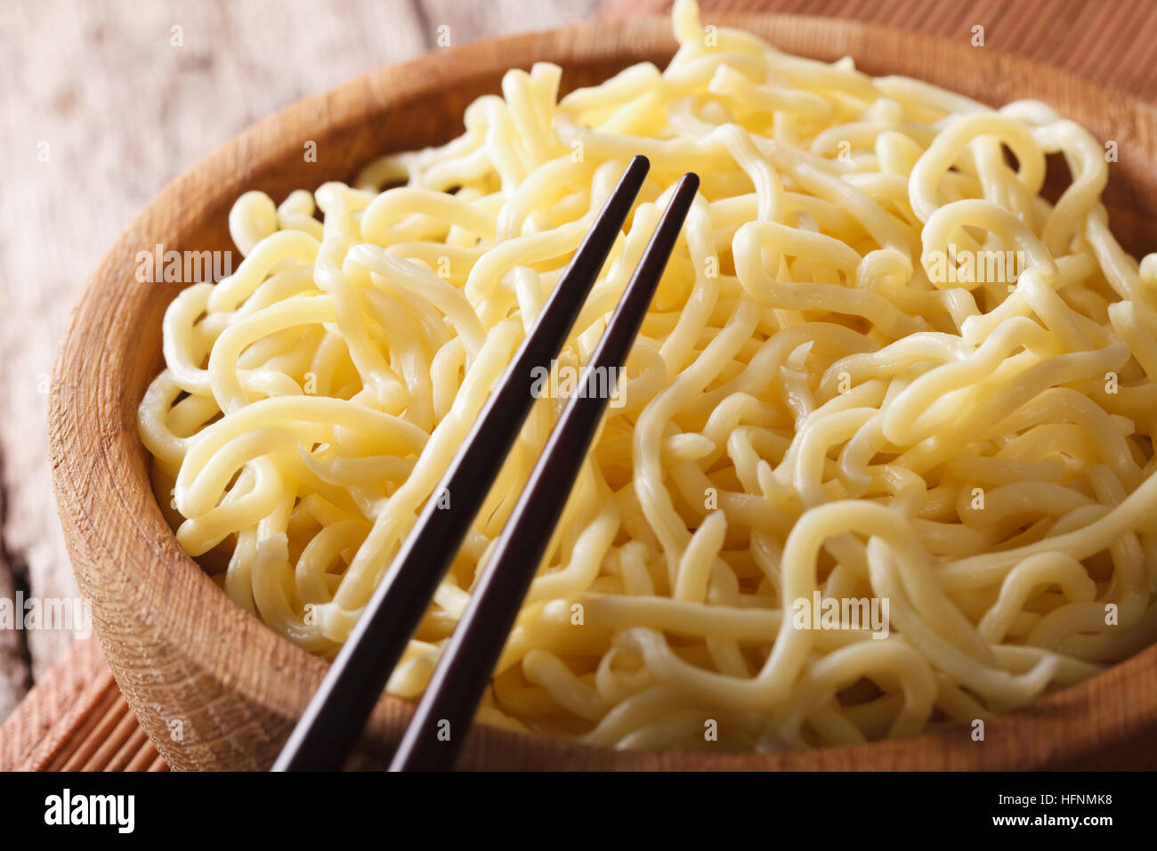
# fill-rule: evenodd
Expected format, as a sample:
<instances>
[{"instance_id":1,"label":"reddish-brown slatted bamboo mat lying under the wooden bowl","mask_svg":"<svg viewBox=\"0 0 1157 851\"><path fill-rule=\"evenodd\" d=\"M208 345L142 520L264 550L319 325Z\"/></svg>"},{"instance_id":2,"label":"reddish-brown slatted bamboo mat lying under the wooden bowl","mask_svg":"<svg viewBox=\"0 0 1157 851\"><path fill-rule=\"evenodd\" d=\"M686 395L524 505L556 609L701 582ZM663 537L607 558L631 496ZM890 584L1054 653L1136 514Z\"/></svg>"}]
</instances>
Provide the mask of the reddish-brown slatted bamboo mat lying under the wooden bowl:
<instances>
[{"instance_id":1,"label":"reddish-brown slatted bamboo mat lying under the wooden bowl","mask_svg":"<svg viewBox=\"0 0 1157 851\"><path fill-rule=\"evenodd\" d=\"M603 16L664 13L671 0L611 0ZM713 12L839 16L968 38L1157 100L1157 3L1120 0L700 0ZM96 639L78 641L0 727L0 771L167 771L117 689Z\"/></svg>"}]
</instances>

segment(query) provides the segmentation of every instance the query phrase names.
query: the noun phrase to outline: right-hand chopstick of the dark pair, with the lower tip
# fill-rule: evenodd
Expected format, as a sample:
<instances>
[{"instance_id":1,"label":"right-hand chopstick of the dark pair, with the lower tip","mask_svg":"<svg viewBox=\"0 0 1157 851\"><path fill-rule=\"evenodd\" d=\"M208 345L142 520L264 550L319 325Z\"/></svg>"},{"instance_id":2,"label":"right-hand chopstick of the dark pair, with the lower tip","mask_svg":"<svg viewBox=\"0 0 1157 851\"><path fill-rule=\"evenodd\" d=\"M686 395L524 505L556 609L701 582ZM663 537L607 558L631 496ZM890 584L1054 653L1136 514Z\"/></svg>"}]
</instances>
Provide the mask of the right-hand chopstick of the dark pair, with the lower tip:
<instances>
[{"instance_id":1,"label":"right-hand chopstick of the dark pair, with the lower tip","mask_svg":"<svg viewBox=\"0 0 1157 851\"><path fill-rule=\"evenodd\" d=\"M452 768L699 189L684 175L447 644L391 771Z\"/></svg>"}]
</instances>

